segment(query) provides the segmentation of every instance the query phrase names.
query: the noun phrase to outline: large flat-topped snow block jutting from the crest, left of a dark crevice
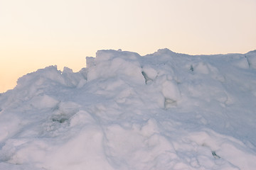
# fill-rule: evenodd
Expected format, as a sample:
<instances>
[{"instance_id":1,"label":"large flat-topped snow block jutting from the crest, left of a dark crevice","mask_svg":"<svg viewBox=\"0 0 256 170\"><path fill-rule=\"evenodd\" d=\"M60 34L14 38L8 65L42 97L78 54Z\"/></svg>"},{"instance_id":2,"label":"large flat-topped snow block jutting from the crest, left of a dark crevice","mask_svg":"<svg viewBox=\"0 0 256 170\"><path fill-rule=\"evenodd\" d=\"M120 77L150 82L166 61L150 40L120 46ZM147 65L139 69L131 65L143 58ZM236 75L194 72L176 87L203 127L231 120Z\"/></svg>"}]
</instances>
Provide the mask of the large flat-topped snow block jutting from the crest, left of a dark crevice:
<instances>
[{"instance_id":1,"label":"large flat-topped snow block jutting from the crest, left of a dark crevice","mask_svg":"<svg viewBox=\"0 0 256 170\"><path fill-rule=\"evenodd\" d=\"M87 80L118 77L136 84L144 84L142 67L137 57L132 52L98 51L95 66L88 70Z\"/></svg>"}]
</instances>

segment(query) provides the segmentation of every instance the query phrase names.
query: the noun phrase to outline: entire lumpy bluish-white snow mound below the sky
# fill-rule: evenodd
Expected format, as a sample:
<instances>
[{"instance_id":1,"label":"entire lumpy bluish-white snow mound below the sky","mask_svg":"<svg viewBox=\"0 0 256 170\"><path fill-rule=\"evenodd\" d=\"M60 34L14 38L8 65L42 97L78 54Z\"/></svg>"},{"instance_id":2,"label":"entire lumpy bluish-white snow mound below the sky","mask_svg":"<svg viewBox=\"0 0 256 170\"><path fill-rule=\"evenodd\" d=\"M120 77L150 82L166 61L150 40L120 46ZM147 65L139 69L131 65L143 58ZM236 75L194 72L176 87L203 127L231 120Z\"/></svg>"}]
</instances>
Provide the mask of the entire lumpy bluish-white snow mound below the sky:
<instances>
[{"instance_id":1,"label":"entire lumpy bluish-white snow mound below the sky","mask_svg":"<svg viewBox=\"0 0 256 170\"><path fill-rule=\"evenodd\" d=\"M256 51L100 50L0 94L0 169L255 169Z\"/></svg>"}]
</instances>

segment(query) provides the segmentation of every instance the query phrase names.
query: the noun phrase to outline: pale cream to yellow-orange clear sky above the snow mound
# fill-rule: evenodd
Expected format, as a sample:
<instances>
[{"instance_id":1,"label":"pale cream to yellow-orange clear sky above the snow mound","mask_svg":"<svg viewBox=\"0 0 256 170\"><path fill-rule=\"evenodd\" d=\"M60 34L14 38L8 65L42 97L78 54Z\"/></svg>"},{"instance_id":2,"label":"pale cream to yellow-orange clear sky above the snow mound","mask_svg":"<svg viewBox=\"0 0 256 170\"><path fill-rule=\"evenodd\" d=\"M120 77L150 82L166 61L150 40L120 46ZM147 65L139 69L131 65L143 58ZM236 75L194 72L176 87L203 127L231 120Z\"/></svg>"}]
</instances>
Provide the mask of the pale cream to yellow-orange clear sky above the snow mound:
<instances>
[{"instance_id":1,"label":"pale cream to yellow-orange clear sky above the snow mound","mask_svg":"<svg viewBox=\"0 0 256 170\"><path fill-rule=\"evenodd\" d=\"M0 0L0 93L49 65L85 67L97 50L191 55L256 49L255 0Z\"/></svg>"}]
</instances>

